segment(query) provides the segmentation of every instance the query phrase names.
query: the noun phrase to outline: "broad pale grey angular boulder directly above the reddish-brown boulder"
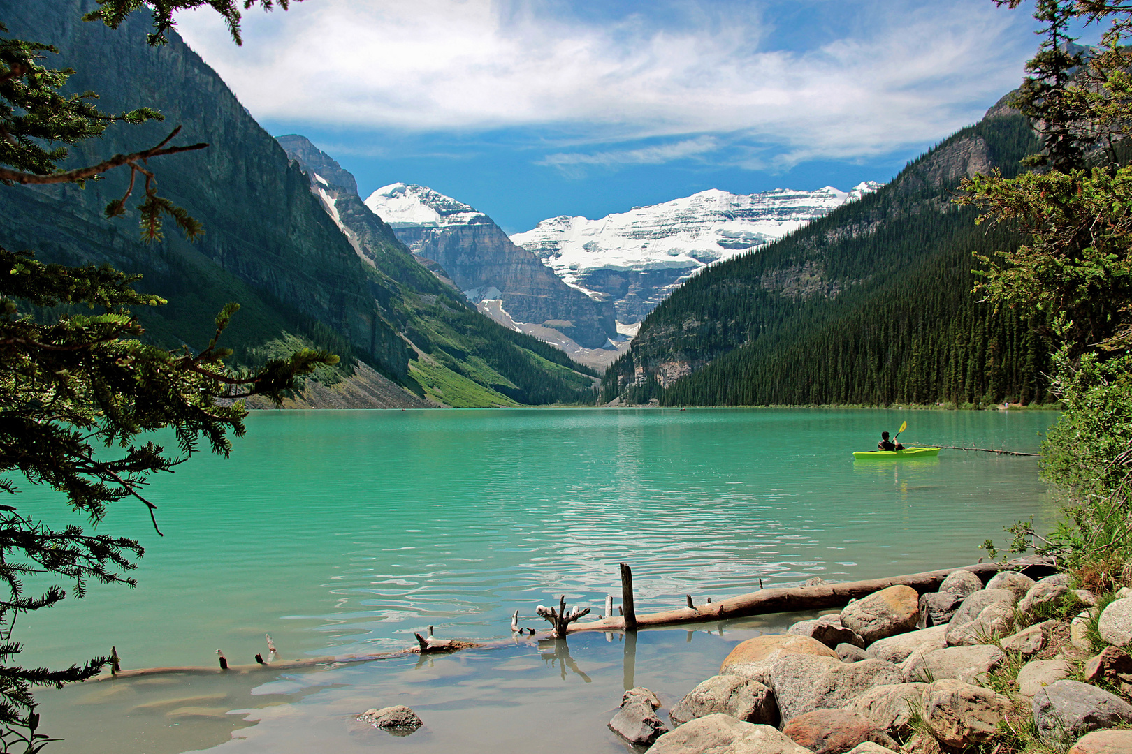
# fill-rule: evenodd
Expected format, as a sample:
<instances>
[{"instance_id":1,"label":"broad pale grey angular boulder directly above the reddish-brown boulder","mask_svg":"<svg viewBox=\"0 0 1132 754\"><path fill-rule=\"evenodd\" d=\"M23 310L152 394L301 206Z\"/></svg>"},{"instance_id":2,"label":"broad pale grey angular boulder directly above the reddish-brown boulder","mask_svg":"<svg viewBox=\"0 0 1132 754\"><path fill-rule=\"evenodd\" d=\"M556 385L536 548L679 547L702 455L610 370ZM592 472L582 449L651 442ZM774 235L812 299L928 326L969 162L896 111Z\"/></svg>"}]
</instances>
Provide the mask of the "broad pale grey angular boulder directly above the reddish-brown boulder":
<instances>
[{"instance_id":1,"label":"broad pale grey angular boulder directly above the reddish-brown boulder","mask_svg":"<svg viewBox=\"0 0 1132 754\"><path fill-rule=\"evenodd\" d=\"M771 683L779 714L790 720L821 709L843 708L861 693L883 684L900 683L900 670L883 660L842 662L827 657L787 655L771 667Z\"/></svg>"}]
</instances>

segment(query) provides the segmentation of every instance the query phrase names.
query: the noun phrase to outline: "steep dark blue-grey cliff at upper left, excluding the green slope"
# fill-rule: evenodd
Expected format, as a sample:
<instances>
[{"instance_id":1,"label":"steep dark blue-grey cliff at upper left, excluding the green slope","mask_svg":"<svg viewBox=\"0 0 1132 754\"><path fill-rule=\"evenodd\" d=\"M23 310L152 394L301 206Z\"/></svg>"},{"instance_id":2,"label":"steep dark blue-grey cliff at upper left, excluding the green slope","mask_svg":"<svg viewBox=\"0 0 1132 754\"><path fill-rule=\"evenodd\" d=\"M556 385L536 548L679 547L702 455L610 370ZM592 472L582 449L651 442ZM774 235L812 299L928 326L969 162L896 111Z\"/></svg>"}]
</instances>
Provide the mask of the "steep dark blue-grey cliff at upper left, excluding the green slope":
<instances>
[{"instance_id":1,"label":"steep dark blue-grey cliff at upper left, excluding the green slope","mask_svg":"<svg viewBox=\"0 0 1132 754\"><path fill-rule=\"evenodd\" d=\"M0 1L0 17L12 36L57 45L61 54L49 55L48 63L78 71L68 84L71 90L100 93L104 112L151 105L165 116L161 123L112 125L103 138L74 149L69 164L92 164L157 144L178 124L182 131L177 144L207 141L207 149L162 157L149 166L161 196L204 223L194 253L217 266L217 274L343 333L387 372L405 375L409 350L377 310L361 261L282 147L175 34L168 45L149 47L143 14L112 31L80 20L94 7L93 0ZM88 224L91 240L101 240L59 249L72 259L111 261L127 270L168 267L162 260L175 255L180 243L173 239L175 231L151 248L137 241L129 217L101 217L103 207L125 192L128 179L127 172L117 171L85 190L0 188L10 210L0 241L37 248L35 226L22 218L46 211L67 216L68 223ZM213 312L203 314L211 318Z\"/></svg>"}]
</instances>

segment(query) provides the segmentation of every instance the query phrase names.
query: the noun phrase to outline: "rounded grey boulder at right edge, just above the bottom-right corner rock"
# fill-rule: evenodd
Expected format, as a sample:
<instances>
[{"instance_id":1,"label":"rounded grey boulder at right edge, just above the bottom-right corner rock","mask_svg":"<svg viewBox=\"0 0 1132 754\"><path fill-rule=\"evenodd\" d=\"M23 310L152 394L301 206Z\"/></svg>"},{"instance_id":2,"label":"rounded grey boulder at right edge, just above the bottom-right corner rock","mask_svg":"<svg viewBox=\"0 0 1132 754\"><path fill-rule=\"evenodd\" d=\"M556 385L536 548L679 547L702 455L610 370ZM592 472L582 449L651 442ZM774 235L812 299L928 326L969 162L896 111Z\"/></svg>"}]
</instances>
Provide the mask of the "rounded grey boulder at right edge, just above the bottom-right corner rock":
<instances>
[{"instance_id":1,"label":"rounded grey boulder at right edge, just above the bottom-right corner rock","mask_svg":"<svg viewBox=\"0 0 1132 754\"><path fill-rule=\"evenodd\" d=\"M1069 743L1087 733L1132 722L1132 704L1103 688L1078 681L1056 681L1034 694L1038 734Z\"/></svg>"}]
</instances>

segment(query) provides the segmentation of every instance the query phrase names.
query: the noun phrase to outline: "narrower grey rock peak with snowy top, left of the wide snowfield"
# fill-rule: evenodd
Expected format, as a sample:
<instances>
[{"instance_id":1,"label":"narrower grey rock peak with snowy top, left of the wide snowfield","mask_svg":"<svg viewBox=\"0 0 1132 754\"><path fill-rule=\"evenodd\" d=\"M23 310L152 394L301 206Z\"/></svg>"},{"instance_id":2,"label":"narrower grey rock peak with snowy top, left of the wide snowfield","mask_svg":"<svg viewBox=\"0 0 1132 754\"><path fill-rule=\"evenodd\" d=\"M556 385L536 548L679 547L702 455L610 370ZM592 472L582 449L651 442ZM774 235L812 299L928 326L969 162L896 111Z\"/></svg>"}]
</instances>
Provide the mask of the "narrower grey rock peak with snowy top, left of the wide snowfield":
<instances>
[{"instance_id":1,"label":"narrower grey rock peak with snowy top, left of the wide snowfield","mask_svg":"<svg viewBox=\"0 0 1132 754\"><path fill-rule=\"evenodd\" d=\"M614 347L610 339L618 339L608 296L566 285L483 213L405 183L378 189L366 206L418 259L439 265L472 303L503 324L550 343L555 338L541 330L555 330L585 348Z\"/></svg>"}]
</instances>

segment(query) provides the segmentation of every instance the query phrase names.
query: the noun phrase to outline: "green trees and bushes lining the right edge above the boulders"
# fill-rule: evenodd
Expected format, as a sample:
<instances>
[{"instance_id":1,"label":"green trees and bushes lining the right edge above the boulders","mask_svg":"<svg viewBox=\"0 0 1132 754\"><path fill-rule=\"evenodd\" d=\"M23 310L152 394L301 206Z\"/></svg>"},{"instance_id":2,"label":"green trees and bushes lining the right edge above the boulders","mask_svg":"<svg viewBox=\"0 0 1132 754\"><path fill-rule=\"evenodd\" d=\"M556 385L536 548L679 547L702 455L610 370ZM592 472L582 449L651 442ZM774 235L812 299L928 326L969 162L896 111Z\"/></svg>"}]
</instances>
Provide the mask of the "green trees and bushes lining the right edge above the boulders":
<instances>
[{"instance_id":1,"label":"green trees and bushes lining the right edge above the boulders","mask_svg":"<svg viewBox=\"0 0 1132 754\"><path fill-rule=\"evenodd\" d=\"M1026 236L1022 245L976 253L977 289L996 309L1044 315L1058 346L1052 391L1065 410L1040 465L1065 515L1047 535L1032 522L1011 527L1010 551L1053 555L1103 593L1132 560L1132 7L1040 0L1035 15L1046 37L1015 102L1044 140L1031 162L1047 170L975 176L961 201L983 210L979 222ZM1065 28L1081 17L1110 21L1089 54L1066 46Z\"/></svg>"}]
</instances>

